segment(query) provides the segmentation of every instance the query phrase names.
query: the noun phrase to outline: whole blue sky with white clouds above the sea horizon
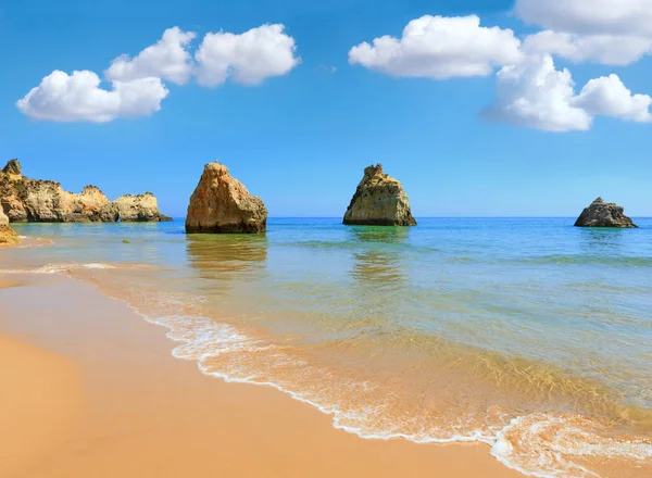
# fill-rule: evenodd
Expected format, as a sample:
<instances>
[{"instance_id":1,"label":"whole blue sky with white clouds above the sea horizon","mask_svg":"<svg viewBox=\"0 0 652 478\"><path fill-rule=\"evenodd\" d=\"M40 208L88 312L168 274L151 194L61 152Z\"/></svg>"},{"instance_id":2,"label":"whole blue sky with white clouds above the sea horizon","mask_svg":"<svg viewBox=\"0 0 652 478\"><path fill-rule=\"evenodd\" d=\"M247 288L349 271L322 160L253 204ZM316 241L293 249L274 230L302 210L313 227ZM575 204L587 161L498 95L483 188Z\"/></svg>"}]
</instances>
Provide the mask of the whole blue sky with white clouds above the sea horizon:
<instances>
[{"instance_id":1,"label":"whole blue sky with white clouds above the sea horizon","mask_svg":"<svg viewBox=\"0 0 652 478\"><path fill-rule=\"evenodd\" d=\"M652 216L652 0L22 0L0 40L0 162L71 191L183 217L220 161L338 217L383 163L417 218Z\"/></svg>"}]
</instances>

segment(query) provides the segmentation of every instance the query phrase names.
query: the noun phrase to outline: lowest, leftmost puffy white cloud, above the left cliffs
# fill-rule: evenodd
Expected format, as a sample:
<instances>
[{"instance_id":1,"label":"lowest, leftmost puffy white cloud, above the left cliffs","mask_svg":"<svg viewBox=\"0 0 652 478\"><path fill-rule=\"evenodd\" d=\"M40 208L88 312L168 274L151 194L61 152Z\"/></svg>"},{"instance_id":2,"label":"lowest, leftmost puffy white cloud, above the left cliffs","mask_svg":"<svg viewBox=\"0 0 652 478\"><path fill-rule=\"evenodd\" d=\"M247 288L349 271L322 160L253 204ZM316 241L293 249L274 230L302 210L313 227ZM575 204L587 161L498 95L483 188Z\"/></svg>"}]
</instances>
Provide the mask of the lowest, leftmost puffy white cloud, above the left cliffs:
<instances>
[{"instance_id":1,"label":"lowest, leftmost puffy white cloud, above the left cliffs","mask_svg":"<svg viewBox=\"0 0 652 478\"><path fill-rule=\"evenodd\" d=\"M67 75L54 71L16 106L34 120L105 123L156 112L167 93L160 78L113 81L109 91L100 88L100 78L93 72Z\"/></svg>"}]
</instances>

